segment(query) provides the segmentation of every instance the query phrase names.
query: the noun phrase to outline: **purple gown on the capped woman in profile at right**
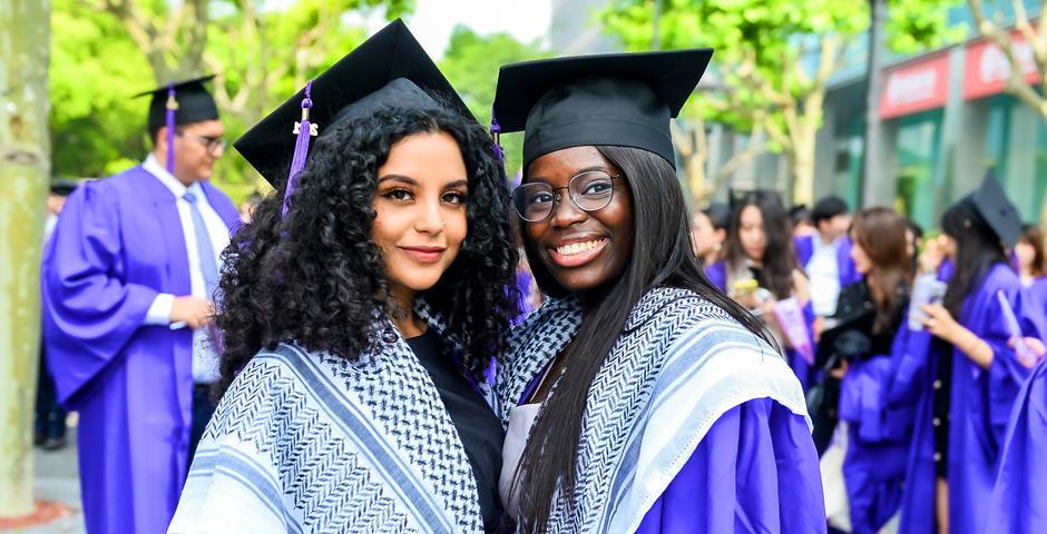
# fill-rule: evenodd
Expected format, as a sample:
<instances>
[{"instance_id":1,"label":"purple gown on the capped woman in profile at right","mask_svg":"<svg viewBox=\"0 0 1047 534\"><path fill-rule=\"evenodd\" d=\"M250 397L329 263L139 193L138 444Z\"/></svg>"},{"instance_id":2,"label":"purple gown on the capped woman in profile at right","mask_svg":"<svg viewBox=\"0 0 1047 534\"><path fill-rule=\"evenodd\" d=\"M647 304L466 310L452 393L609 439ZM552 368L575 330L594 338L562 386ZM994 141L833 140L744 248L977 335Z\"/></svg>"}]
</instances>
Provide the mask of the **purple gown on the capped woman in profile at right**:
<instances>
[{"instance_id":1,"label":"purple gown on the capped woman in profile at right","mask_svg":"<svg viewBox=\"0 0 1047 534\"><path fill-rule=\"evenodd\" d=\"M1027 335L1035 335L1025 316L1021 284L1007 265L994 266L963 301L960 323L992 347L992 364L981 369L958 349L937 357L952 358L948 439L949 526L953 534L982 534L996 481L1004 434L1018 389L1029 370L1007 346L1009 334L997 303L1004 290ZM910 349L903 366L916 369L916 419L907 459L900 534L935 532L933 392L937 374L931 349Z\"/></svg>"}]
</instances>

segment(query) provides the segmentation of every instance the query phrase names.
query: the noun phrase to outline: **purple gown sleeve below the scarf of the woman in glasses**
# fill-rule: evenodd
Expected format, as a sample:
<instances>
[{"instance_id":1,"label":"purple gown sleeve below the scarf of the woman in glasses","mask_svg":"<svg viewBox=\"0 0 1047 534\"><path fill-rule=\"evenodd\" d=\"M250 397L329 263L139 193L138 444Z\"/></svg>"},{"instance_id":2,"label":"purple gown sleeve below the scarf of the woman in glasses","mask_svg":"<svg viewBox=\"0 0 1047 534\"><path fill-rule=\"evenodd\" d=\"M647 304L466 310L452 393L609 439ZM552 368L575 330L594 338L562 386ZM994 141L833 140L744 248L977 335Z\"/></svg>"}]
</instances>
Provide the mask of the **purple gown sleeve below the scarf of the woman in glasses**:
<instances>
[{"instance_id":1,"label":"purple gown sleeve below the scarf of the woman in glasses","mask_svg":"<svg viewBox=\"0 0 1047 534\"><path fill-rule=\"evenodd\" d=\"M825 532L803 417L769 398L721 416L636 532Z\"/></svg>"}]
</instances>

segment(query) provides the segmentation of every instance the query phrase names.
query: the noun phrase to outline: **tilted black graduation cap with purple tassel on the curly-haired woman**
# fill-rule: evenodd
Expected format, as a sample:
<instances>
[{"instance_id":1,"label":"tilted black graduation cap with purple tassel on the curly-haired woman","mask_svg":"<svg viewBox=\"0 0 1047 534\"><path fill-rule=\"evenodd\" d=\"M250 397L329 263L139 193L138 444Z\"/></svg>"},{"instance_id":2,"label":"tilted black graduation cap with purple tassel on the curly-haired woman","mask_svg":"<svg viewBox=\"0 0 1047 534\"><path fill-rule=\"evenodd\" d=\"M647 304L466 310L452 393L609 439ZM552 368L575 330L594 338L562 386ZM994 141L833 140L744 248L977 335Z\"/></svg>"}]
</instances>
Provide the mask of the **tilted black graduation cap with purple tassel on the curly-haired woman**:
<instances>
[{"instance_id":1,"label":"tilted black graduation cap with purple tassel on the curly-haired woman","mask_svg":"<svg viewBox=\"0 0 1047 534\"><path fill-rule=\"evenodd\" d=\"M305 166L310 136L383 108L443 107L429 91L468 113L451 83L407 24L397 19L280 105L233 146L275 189L287 181L286 214L294 179Z\"/></svg>"}]
</instances>

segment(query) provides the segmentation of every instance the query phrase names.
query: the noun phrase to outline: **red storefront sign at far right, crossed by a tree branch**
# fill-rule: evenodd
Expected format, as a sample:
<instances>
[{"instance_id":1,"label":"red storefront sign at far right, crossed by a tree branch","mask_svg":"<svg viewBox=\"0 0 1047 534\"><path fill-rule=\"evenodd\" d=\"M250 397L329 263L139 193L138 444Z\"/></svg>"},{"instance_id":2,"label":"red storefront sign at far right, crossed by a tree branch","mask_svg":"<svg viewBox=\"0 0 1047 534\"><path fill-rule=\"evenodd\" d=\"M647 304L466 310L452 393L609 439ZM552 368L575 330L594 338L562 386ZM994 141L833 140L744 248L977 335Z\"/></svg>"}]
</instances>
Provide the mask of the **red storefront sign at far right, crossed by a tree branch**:
<instances>
[{"instance_id":1,"label":"red storefront sign at far right, crossed by a tree branch","mask_svg":"<svg viewBox=\"0 0 1047 534\"><path fill-rule=\"evenodd\" d=\"M1035 81L1038 73L1029 41L1020 32L1012 31L1010 42L1026 81ZM1010 61L995 43L984 39L972 43L967 49L967 65L963 67L963 98L970 100L1004 92L1010 70Z\"/></svg>"}]
</instances>

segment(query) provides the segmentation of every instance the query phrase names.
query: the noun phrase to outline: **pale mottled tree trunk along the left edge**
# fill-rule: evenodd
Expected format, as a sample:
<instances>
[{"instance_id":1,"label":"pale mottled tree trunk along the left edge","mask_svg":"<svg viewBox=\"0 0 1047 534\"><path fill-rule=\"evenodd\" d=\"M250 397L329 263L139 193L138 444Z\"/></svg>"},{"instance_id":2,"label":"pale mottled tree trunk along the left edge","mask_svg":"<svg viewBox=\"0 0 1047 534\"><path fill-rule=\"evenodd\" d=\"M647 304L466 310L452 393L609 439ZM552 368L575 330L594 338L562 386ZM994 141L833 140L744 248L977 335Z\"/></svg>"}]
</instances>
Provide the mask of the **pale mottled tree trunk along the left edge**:
<instances>
[{"instance_id":1,"label":"pale mottled tree trunk along the left edge","mask_svg":"<svg viewBox=\"0 0 1047 534\"><path fill-rule=\"evenodd\" d=\"M0 516L32 512L50 0L0 0Z\"/></svg>"}]
</instances>

